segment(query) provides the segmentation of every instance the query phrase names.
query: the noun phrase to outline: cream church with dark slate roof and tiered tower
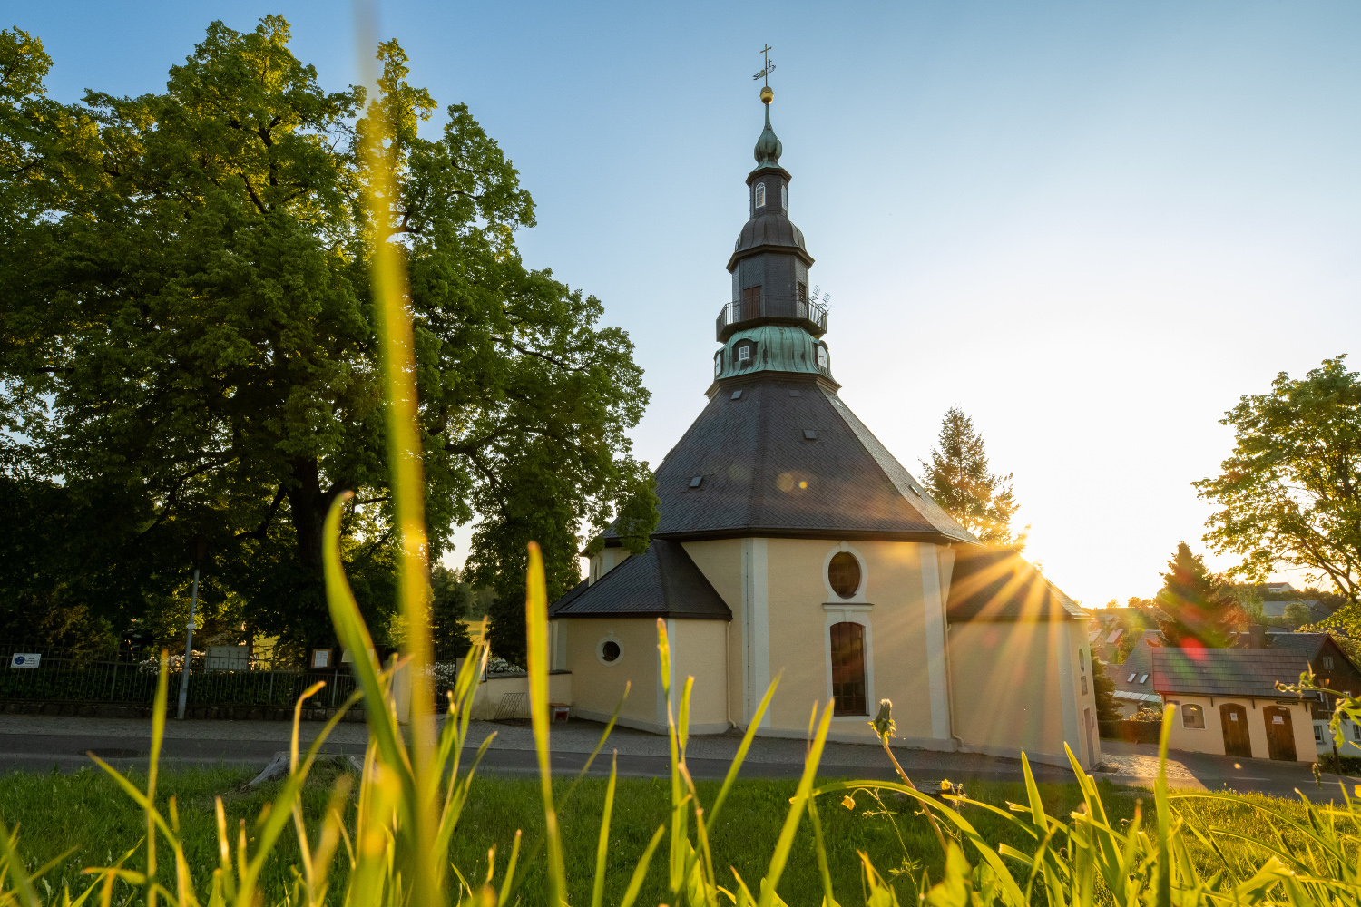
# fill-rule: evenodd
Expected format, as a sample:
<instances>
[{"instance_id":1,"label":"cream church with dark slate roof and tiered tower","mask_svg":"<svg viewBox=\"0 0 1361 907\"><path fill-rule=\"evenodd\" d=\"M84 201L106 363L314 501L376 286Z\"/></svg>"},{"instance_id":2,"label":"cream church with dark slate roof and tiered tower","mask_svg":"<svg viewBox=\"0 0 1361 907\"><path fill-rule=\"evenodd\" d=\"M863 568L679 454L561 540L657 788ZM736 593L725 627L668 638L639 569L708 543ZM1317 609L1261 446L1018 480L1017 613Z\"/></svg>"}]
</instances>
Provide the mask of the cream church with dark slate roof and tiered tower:
<instances>
[{"instance_id":1,"label":"cream church with dark slate roof and tiered tower","mask_svg":"<svg viewBox=\"0 0 1361 907\"><path fill-rule=\"evenodd\" d=\"M664 733L657 619L670 685L694 676L690 730L804 737L834 702L830 737L1067 764L1101 760L1083 612L1010 549L983 547L838 396L813 256L789 220L789 173L770 126L746 178L750 218L715 322L708 405L656 470L661 518L642 555L607 530L588 577L548 609L572 714Z\"/></svg>"}]
</instances>

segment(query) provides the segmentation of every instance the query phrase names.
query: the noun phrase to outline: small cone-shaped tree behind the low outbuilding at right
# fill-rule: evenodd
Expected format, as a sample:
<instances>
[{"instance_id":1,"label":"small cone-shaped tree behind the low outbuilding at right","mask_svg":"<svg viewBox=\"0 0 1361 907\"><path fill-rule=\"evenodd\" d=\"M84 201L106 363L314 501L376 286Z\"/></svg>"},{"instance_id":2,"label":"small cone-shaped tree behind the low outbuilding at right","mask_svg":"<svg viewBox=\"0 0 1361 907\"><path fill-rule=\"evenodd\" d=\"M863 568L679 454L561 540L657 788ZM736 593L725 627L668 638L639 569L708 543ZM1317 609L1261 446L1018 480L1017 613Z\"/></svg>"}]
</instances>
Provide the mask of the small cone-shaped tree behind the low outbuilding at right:
<instances>
[{"instance_id":1,"label":"small cone-shaped tree behind the low outbuilding at right","mask_svg":"<svg viewBox=\"0 0 1361 907\"><path fill-rule=\"evenodd\" d=\"M1232 592L1184 541L1168 562L1157 602L1162 611L1158 630L1168 646L1224 649L1233 642L1230 634L1247 626Z\"/></svg>"}]
</instances>

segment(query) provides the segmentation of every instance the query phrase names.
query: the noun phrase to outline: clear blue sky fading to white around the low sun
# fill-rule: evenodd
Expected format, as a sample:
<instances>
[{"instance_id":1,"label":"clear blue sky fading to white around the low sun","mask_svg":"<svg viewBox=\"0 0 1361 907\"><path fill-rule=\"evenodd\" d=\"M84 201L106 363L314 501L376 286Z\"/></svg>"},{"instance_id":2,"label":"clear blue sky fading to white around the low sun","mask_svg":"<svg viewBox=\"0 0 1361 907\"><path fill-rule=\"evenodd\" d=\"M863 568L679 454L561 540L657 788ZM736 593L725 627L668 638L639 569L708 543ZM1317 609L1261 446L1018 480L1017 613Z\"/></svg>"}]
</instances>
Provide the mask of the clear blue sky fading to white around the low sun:
<instances>
[{"instance_id":1,"label":"clear blue sky fading to white around the low sun","mask_svg":"<svg viewBox=\"0 0 1361 907\"><path fill-rule=\"evenodd\" d=\"M75 101L159 91L211 20L272 12L325 87L359 80L336 3L48 0L0 26L38 35L49 92ZM377 18L411 82L468 103L520 170L527 264L629 332L653 466L705 404L766 44L842 400L915 473L962 408L1014 475L1028 556L1083 604L1151 596L1179 541L1204 549L1191 483L1229 454L1240 396L1338 354L1361 366L1353 0L393 0Z\"/></svg>"}]
</instances>

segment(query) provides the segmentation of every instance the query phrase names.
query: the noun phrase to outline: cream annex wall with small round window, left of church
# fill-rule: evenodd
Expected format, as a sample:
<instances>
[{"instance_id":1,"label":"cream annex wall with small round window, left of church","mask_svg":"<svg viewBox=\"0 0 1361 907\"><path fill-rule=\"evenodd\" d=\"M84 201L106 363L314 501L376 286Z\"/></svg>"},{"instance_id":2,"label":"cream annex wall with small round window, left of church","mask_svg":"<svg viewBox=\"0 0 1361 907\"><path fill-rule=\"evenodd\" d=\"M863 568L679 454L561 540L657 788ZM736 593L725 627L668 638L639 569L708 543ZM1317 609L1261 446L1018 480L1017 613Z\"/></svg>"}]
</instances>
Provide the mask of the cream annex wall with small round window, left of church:
<instances>
[{"instance_id":1,"label":"cream annex wall with small round window, left of church","mask_svg":"<svg viewBox=\"0 0 1361 907\"><path fill-rule=\"evenodd\" d=\"M657 621L646 617L573 617L555 620L554 634L562 639L566 666L572 672L572 714L606 721L632 681L629 698L619 713L629 726L656 729L657 723ZM603 664L596 645L612 636L619 658Z\"/></svg>"}]
</instances>

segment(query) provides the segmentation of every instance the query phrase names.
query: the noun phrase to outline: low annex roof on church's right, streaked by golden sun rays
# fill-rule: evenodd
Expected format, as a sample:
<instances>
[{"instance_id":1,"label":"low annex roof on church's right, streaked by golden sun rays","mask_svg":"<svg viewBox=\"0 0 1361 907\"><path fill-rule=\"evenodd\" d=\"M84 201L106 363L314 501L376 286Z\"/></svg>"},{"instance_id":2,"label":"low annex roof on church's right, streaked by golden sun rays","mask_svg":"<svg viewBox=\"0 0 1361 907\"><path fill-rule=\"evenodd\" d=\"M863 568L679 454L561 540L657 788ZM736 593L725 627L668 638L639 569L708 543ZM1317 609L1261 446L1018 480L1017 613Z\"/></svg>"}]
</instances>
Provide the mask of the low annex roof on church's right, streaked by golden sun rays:
<instances>
[{"instance_id":1,"label":"low annex roof on church's right, streaked by golden sun rays","mask_svg":"<svg viewBox=\"0 0 1361 907\"><path fill-rule=\"evenodd\" d=\"M1010 548L958 548L950 577L950 623L1087 620L1086 612Z\"/></svg>"}]
</instances>

